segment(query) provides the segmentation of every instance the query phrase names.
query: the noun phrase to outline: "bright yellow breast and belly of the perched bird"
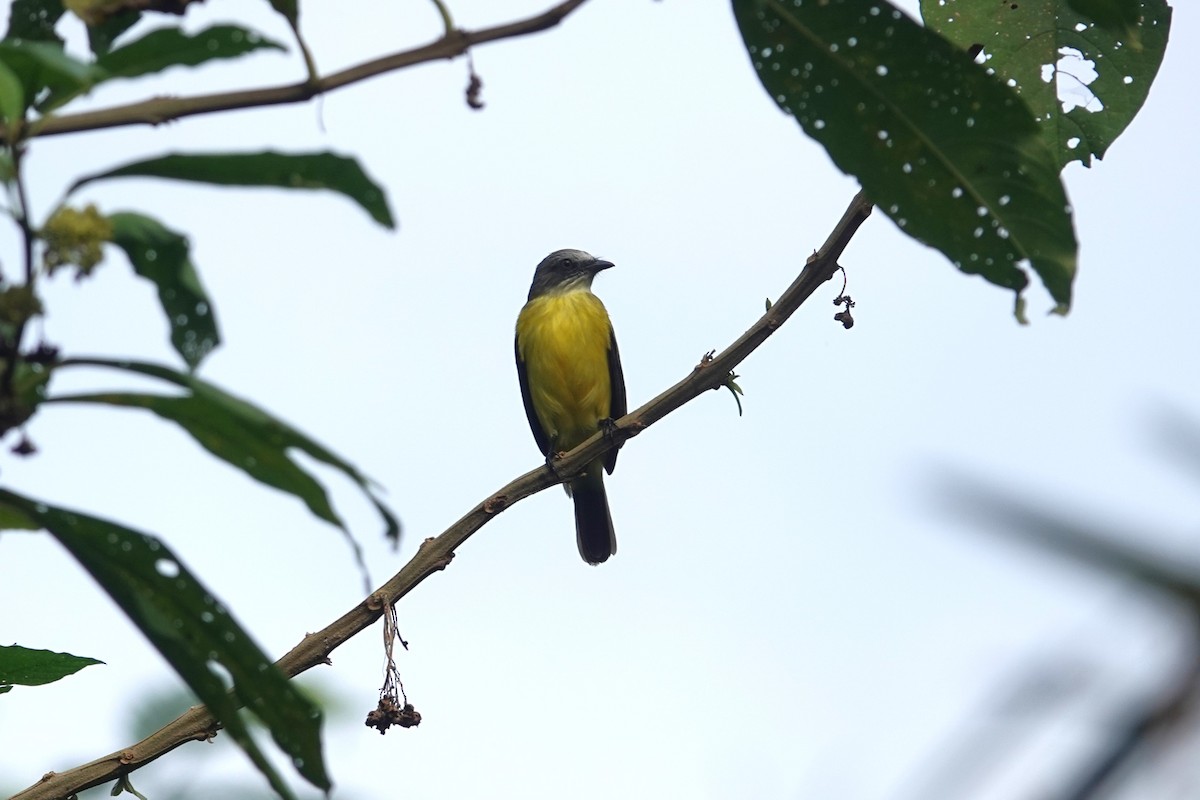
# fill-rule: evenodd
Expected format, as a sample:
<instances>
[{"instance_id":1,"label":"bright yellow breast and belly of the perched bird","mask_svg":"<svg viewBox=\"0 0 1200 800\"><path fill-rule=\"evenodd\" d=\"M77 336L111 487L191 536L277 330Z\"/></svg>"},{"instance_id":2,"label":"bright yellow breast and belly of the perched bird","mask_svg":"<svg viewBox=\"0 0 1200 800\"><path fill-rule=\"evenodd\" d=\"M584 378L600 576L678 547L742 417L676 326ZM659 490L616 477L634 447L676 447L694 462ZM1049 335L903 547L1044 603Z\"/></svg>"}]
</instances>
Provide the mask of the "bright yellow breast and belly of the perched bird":
<instances>
[{"instance_id":1,"label":"bright yellow breast and belly of the perched bird","mask_svg":"<svg viewBox=\"0 0 1200 800\"><path fill-rule=\"evenodd\" d=\"M517 349L542 428L558 450L570 450L610 415L608 312L587 289L548 294L517 318Z\"/></svg>"}]
</instances>

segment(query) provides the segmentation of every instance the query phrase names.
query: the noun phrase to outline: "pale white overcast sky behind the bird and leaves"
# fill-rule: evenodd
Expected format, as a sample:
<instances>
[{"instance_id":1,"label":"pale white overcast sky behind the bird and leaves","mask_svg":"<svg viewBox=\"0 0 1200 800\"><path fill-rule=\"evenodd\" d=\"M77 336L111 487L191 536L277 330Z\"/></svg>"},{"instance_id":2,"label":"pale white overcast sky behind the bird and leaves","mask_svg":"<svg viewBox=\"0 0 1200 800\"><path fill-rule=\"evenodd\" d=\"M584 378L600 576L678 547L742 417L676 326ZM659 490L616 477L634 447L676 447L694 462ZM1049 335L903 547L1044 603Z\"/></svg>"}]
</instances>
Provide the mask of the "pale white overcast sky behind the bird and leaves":
<instances>
[{"instance_id":1,"label":"pale white overcast sky behind the bird and leaves","mask_svg":"<svg viewBox=\"0 0 1200 800\"><path fill-rule=\"evenodd\" d=\"M546 5L451 8L479 28ZM210 0L187 25L241 19L287 40L260 6ZM842 259L853 330L833 321L829 285L738 371L744 416L710 393L629 443L608 479L614 559L580 560L556 489L401 603L418 729L361 726L378 631L334 654L322 680L353 709L328 734L335 796L907 800L938 794L959 748L994 735L1010 748L955 796L1058 787L1112 708L1163 679L1182 628L1166 604L952 517L936 477L962 470L1195 551L1194 475L1154 422L1163 405L1200 419L1198 17L1177 4L1141 115L1104 162L1067 172L1081 242L1068 318L1044 317L1036 289L1033 324L1018 326L1009 294L876 215ZM427 2L304 6L325 71L438 25ZM82 194L188 231L226 338L202 374L388 488L398 554L322 473L377 582L539 463L511 336L542 255L580 247L617 264L595 289L636 407L748 327L856 191L763 92L725 2L590 2L556 30L479 48L475 67L484 112L463 102L466 64L440 62L320 103L38 140L30 157L43 211L79 174L167 151L332 149L386 186L398 233L331 194L142 180ZM271 53L89 102L300 76ZM6 264L14 247L0 230ZM116 252L94 279L47 287L47 302L46 335L68 354L174 362L152 290ZM360 599L335 529L157 419L52 408L29 434L40 453L5 452L7 486L161 535L268 652ZM0 537L0 642L107 662L0 699L0 789L131 744L139 696L175 682L48 536ZM1039 676L1069 693L1004 704ZM154 796L184 753L134 784ZM236 754L187 777L260 787Z\"/></svg>"}]
</instances>

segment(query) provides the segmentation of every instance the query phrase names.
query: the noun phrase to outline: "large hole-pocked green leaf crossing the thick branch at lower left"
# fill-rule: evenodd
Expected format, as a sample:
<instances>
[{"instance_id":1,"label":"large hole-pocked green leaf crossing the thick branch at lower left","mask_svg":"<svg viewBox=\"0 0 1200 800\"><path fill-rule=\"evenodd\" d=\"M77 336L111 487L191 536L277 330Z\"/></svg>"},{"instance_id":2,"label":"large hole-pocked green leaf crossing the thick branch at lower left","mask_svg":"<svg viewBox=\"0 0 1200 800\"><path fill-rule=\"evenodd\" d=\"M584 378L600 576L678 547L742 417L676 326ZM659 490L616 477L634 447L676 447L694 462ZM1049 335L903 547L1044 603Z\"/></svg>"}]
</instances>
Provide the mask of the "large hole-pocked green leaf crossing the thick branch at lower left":
<instances>
[{"instance_id":1,"label":"large hole-pocked green leaf crossing the thick branch at lower left","mask_svg":"<svg viewBox=\"0 0 1200 800\"><path fill-rule=\"evenodd\" d=\"M320 752L320 710L296 691L161 540L4 489L0 504L37 519L91 573L281 796L293 795L254 744L239 705L266 724L275 744L305 778L329 789ZM232 693L215 664L233 679Z\"/></svg>"}]
</instances>

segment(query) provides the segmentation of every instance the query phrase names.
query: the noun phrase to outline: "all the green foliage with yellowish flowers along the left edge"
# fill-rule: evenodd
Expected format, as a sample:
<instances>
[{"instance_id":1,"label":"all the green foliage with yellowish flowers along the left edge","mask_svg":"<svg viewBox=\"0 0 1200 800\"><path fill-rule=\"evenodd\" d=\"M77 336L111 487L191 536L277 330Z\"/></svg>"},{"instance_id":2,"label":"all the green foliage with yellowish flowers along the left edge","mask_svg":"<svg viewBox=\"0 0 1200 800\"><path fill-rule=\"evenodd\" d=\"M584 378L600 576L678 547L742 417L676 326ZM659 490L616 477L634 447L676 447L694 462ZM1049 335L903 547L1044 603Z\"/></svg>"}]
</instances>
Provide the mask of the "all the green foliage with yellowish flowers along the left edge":
<instances>
[{"instance_id":1,"label":"all the green foliage with yellowish flowers along the left edge","mask_svg":"<svg viewBox=\"0 0 1200 800\"><path fill-rule=\"evenodd\" d=\"M17 0L7 34L0 41L0 122L6 164L2 178L25 241L24 269L0 273L0 434L24 426L48 403L150 411L180 426L209 453L245 475L296 497L313 515L348 536L325 488L293 455L306 453L359 486L378 509L385 535L398 540L395 513L350 462L265 409L198 377L197 371L222 339L216 302L204 287L186 234L142 211L102 211L95 204L79 206L72 200L85 186L102 187L130 178L329 191L358 204L376 223L395 228L383 188L355 158L332 152L176 152L79 178L44 221L34 219L24 186L24 161L40 125L72 101L112 80L286 50L283 44L238 25L215 25L197 34L166 25L137 35L137 23L149 14L132 4L77 2L71 11L88 23L90 59L65 49L58 28L77 20L62 4L50 0ZM280 11L289 24L296 24L294 4L283 4ZM68 270L83 281L114 257L154 285L160 313L185 369L68 357L53 343L26 343L29 321L43 313L42 282ZM151 378L169 391L58 395L49 390L55 374L78 368ZM26 452L34 450L24 435L22 443ZM160 537L8 489L0 489L0 528L44 530L54 536L214 711L277 794L290 796L290 789L250 736L242 710L265 724L306 780L323 789L330 787L320 748L319 709L295 690ZM91 663L100 662L16 645L4 648L0 692L16 685L49 682Z\"/></svg>"}]
</instances>

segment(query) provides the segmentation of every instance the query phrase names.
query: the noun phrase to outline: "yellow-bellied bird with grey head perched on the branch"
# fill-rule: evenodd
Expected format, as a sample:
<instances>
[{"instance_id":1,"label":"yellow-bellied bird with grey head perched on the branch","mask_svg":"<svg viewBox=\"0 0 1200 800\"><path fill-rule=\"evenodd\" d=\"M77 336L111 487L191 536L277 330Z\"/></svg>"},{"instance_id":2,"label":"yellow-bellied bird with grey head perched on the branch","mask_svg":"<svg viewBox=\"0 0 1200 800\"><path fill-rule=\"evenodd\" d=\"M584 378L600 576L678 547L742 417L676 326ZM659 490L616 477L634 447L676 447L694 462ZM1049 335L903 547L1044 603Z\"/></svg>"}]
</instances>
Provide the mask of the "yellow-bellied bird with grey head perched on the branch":
<instances>
[{"instance_id":1,"label":"yellow-bellied bird with grey head perched on the branch","mask_svg":"<svg viewBox=\"0 0 1200 800\"><path fill-rule=\"evenodd\" d=\"M608 311L592 294L592 281L612 261L581 249L558 249L541 259L529 297L517 315L516 361L529 429L553 469L559 452L626 413L625 378ZM588 564L617 552L604 471L612 474L617 451L588 464L564 483L575 501L575 541Z\"/></svg>"}]
</instances>

